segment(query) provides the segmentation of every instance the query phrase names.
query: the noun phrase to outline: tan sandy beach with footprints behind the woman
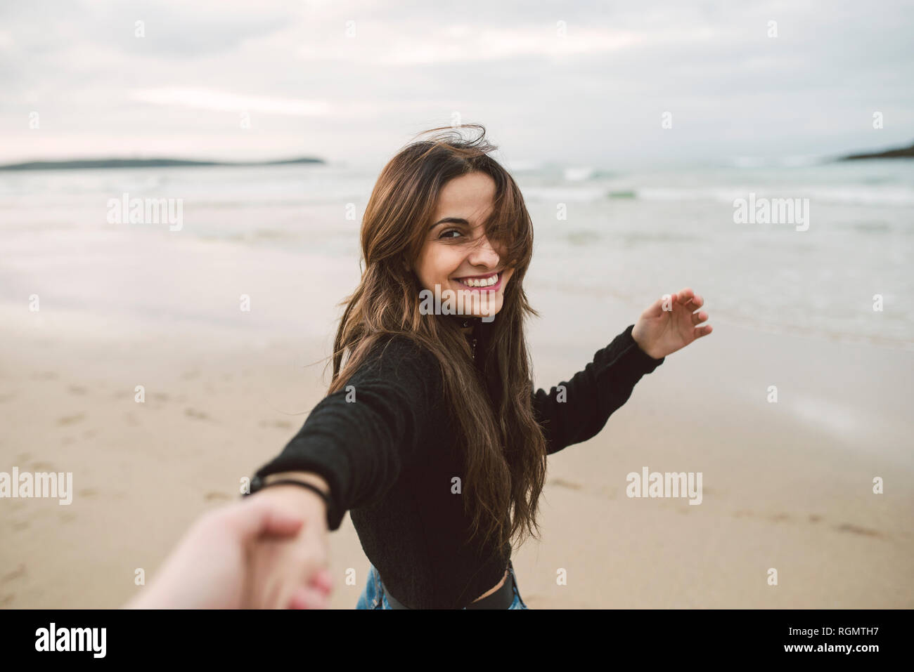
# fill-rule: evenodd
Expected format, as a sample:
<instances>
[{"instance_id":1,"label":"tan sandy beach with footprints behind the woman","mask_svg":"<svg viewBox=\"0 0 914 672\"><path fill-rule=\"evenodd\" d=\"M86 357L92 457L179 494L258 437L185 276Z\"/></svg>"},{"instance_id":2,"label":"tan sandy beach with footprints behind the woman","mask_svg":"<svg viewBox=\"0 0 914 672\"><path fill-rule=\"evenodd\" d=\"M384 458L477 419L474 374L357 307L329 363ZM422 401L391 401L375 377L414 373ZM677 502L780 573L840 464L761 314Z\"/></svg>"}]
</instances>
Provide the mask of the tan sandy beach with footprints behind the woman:
<instances>
[{"instance_id":1,"label":"tan sandy beach with footprints behind the woman","mask_svg":"<svg viewBox=\"0 0 914 672\"><path fill-rule=\"evenodd\" d=\"M578 371L637 316L633 304L604 308L573 336L548 325L579 319L583 301L531 325L538 386ZM329 380L329 331L265 340L4 316L0 470L69 471L74 490L69 506L0 501L4 608L123 604L135 570L148 578L192 520L237 497ZM542 539L515 551L526 604L914 606L914 355L711 321L714 334L643 378L600 435L549 458ZM627 497L626 474L643 467L702 472L701 504ZM368 562L348 515L331 543L332 606L353 608Z\"/></svg>"}]
</instances>

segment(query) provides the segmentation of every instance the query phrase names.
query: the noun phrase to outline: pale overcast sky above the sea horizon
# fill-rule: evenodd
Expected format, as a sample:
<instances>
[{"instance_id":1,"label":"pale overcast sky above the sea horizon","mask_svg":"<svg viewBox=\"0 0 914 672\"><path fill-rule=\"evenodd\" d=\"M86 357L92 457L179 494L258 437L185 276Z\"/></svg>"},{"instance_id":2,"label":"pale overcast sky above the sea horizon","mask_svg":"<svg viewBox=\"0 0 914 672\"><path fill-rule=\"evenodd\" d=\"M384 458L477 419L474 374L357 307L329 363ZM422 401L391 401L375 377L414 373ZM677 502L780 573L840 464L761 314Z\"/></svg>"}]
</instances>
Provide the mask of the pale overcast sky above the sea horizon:
<instances>
[{"instance_id":1,"label":"pale overcast sky above the sea horizon","mask_svg":"<svg viewBox=\"0 0 914 672\"><path fill-rule=\"evenodd\" d=\"M518 164L908 145L912 45L892 0L2 0L0 162L368 166L455 114Z\"/></svg>"}]
</instances>

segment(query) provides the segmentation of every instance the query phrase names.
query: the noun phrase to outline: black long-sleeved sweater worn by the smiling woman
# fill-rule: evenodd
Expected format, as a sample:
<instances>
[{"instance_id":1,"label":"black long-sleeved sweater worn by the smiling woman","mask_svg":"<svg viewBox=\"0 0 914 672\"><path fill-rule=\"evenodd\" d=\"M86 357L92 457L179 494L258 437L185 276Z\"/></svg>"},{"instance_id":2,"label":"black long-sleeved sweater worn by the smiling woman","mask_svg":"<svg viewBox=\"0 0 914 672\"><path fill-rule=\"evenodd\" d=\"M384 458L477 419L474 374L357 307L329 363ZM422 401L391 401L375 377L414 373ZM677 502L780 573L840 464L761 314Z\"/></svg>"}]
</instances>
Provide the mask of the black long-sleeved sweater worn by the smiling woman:
<instances>
[{"instance_id":1,"label":"black long-sleeved sweater worn by the smiling woman","mask_svg":"<svg viewBox=\"0 0 914 672\"><path fill-rule=\"evenodd\" d=\"M632 327L560 383L564 402L556 387L533 394L548 454L599 433L634 384L664 362L638 347ZM452 494L452 478L466 485L462 449L437 361L405 337L388 338L349 385L354 402L346 401L346 389L324 397L257 476L311 471L324 477L332 500L329 529L338 529L350 512L368 560L399 602L415 609L472 603L501 581L511 546L467 543L471 520L462 494Z\"/></svg>"}]
</instances>

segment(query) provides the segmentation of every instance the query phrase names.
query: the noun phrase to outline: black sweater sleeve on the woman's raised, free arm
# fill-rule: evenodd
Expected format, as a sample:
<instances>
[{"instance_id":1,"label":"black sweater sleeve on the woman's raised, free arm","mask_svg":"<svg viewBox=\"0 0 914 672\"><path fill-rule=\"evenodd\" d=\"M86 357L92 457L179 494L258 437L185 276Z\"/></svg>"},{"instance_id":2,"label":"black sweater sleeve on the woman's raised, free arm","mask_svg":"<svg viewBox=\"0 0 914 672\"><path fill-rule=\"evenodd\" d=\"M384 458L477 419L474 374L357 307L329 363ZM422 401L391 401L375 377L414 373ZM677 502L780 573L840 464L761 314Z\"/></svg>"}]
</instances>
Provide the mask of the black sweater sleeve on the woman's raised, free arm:
<instances>
[{"instance_id":1,"label":"black sweater sleeve on the woman's raised, free arm","mask_svg":"<svg viewBox=\"0 0 914 672\"><path fill-rule=\"evenodd\" d=\"M635 383L664 363L644 352L632 338L630 325L570 381L548 393L533 393L533 410L543 428L547 455L597 436L610 415L628 401ZM559 389L563 387L564 389Z\"/></svg>"}]
</instances>

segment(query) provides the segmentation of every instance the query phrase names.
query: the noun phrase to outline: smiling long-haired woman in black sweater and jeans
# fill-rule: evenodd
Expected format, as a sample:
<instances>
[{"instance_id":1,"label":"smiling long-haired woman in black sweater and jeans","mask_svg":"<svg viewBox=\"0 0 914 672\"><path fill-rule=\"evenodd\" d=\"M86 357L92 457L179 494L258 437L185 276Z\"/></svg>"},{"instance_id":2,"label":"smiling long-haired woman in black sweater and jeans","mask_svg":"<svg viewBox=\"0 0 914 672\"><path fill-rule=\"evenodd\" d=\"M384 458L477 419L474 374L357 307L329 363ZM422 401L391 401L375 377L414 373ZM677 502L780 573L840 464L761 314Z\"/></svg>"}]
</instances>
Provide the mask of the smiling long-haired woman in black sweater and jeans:
<instances>
[{"instance_id":1,"label":"smiling long-haired woman in black sweater and jeans","mask_svg":"<svg viewBox=\"0 0 914 672\"><path fill-rule=\"evenodd\" d=\"M293 541L259 547L260 606L325 604L308 582L349 510L371 562L358 608L526 609L511 542L536 536L547 455L595 436L643 374L711 331L685 289L569 382L535 392L524 320L537 312L523 288L533 226L472 127L473 140L449 129L409 144L377 180L330 389L252 481L307 521Z\"/></svg>"}]
</instances>

